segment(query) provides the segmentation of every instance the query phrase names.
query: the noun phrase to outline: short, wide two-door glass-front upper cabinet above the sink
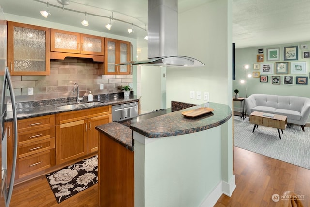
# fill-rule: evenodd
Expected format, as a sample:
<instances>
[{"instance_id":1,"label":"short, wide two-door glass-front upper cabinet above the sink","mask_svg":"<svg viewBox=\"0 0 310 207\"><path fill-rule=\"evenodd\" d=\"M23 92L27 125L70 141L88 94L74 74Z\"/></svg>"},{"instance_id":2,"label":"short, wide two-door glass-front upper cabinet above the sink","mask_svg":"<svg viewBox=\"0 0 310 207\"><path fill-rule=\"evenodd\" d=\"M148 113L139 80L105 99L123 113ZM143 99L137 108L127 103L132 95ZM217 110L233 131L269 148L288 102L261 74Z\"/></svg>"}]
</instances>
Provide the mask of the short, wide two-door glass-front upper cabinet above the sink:
<instances>
[{"instance_id":1,"label":"short, wide two-door glass-front upper cabinet above the sink","mask_svg":"<svg viewBox=\"0 0 310 207\"><path fill-rule=\"evenodd\" d=\"M104 55L104 37L50 29L51 52ZM53 54L54 55L54 54ZM87 57L74 56L73 57ZM92 58L92 57L90 57ZM103 57L102 57L103 61Z\"/></svg>"}]
</instances>

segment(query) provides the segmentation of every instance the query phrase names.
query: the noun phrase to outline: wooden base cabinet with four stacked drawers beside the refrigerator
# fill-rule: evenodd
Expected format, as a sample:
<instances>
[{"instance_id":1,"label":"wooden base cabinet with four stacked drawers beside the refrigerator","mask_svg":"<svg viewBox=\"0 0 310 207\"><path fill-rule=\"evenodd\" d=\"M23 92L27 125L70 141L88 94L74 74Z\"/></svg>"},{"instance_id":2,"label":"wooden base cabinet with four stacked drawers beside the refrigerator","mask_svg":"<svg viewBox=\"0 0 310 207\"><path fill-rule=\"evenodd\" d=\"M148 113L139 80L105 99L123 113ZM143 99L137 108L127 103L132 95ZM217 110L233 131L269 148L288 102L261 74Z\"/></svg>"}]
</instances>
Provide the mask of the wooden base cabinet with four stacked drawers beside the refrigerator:
<instances>
[{"instance_id":1,"label":"wooden base cabinet with four stacked drawers beside the refrigerator","mask_svg":"<svg viewBox=\"0 0 310 207\"><path fill-rule=\"evenodd\" d=\"M55 166L55 115L22 119L17 124L16 179Z\"/></svg>"}]
</instances>

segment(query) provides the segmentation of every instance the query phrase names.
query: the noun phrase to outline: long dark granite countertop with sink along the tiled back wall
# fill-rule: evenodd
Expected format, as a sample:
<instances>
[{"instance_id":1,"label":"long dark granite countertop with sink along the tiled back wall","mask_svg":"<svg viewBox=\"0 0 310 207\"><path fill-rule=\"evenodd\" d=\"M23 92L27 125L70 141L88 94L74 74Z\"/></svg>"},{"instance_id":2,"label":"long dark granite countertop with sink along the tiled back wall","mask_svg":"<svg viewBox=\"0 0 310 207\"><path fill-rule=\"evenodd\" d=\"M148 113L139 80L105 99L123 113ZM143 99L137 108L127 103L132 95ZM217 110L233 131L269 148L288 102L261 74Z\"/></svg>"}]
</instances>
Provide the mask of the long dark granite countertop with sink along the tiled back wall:
<instances>
[{"instance_id":1,"label":"long dark granite countertop with sink along the tiled back wall","mask_svg":"<svg viewBox=\"0 0 310 207\"><path fill-rule=\"evenodd\" d=\"M97 96L95 96L97 97ZM77 111L77 110L83 110L83 109L90 109L95 107L102 107L102 106L109 106L109 105L116 105L116 104L123 104L123 103L129 103L134 101L139 101L140 96L136 95L130 95L129 97L123 97L123 96L114 96L111 94L110 96L102 96L102 98L98 99L95 98L91 102L101 102L102 105L95 105L95 106L89 106L89 107L80 107L75 109L58 109L58 106L62 105L68 105L68 104L77 104L76 101L73 101L72 99L65 99L65 100L51 100L51 101L44 101L44 102L24 102L24 103L17 103L17 119L26 119L26 118L32 118L37 116L45 116L45 115L51 115L56 113L62 113L67 111ZM89 103L89 101L81 101L80 104L83 103ZM46 104L46 105L45 105ZM7 112L7 119L12 119L12 111Z\"/></svg>"}]
</instances>

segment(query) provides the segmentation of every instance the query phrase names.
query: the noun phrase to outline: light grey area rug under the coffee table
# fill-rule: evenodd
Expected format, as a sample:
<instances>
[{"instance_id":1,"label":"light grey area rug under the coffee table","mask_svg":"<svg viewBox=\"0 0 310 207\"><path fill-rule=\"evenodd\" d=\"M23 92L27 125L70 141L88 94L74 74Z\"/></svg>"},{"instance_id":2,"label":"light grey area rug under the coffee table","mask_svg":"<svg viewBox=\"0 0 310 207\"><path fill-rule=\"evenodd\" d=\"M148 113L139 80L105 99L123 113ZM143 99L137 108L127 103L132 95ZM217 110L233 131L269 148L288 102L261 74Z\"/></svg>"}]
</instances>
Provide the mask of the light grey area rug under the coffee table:
<instances>
[{"instance_id":1,"label":"light grey area rug under the coffee table","mask_svg":"<svg viewBox=\"0 0 310 207\"><path fill-rule=\"evenodd\" d=\"M310 169L310 128L288 124L281 132L276 128L258 126L253 131L249 117L234 116L234 146Z\"/></svg>"}]
</instances>

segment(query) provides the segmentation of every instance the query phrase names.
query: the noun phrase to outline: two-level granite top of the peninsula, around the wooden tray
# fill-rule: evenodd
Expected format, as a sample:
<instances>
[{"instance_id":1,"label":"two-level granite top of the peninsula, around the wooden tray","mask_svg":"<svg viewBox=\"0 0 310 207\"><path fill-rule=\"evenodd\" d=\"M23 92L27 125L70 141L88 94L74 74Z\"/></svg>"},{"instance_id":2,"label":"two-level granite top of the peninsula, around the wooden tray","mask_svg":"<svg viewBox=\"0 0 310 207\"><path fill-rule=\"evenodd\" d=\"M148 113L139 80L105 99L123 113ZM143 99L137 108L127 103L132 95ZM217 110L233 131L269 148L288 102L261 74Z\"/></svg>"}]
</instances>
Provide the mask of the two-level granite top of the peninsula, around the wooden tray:
<instances>
[{"instance_id":1,"label":"two-level granite top of the peninsula, around the wooden tray","mask_svg":"<svg viewBox=\"0 0 310 207\"><path fill-rule=\"evenodd\" d=\"M213 108L214 111L196 118L186 118L182 115L183 111L200 107ZM133 151L132 130L149 138L177 136L217 127L227 122L231 116L232 110L228 105L206 103L147 119L132 124L130 127L113 122L96 126L96 129L109 136L117 143L122 144L127 149Z\"/></svg>"}]
</instances>

